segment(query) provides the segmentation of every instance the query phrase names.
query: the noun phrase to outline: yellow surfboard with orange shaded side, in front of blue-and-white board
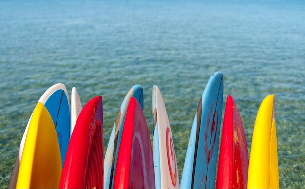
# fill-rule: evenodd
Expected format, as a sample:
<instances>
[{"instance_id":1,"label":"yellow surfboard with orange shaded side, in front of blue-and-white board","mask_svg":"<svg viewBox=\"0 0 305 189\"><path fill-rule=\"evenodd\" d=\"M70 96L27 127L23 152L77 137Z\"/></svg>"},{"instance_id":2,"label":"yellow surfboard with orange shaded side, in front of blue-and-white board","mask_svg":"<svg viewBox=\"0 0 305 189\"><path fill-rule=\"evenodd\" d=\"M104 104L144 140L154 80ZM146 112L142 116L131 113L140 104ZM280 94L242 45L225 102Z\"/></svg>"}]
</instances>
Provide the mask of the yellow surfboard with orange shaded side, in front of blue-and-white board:
<instances>
[{"instance_id":1,"label":"yellow surfboard with orange shaded side, in front of blue-and-white board","mask_svg":"<svg viewBox=\"0 0 305 189\"><path fill-rule=\"evenodd\" d=\"M46 107L38 102L26 135L16 188L58 188L61 171L54 123Z\"/></svg>"}]
</instances>

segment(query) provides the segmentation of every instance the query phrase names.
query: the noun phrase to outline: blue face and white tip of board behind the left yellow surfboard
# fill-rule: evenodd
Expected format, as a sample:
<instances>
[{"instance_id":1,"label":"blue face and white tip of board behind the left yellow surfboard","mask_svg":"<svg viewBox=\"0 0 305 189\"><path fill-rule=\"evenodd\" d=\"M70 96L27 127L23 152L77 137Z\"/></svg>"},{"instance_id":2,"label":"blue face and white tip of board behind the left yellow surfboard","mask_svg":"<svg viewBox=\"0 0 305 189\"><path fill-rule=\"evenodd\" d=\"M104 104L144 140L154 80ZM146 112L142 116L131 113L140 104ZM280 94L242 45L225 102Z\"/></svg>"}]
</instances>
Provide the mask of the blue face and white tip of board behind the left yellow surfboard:
<instances>
[{"instance_id":1,"label":"blue face and white tip of board behind the left yellow surfboard","mask_svg":"<svg viewBox=\"0 0 305 189\"><path fill-rule=\"evenodd\" d=\"M70 141L70 100L66 87L59 83L50 87L39 102L49 111L57 132L62 166Z\"/></svg>"}]
</instances>

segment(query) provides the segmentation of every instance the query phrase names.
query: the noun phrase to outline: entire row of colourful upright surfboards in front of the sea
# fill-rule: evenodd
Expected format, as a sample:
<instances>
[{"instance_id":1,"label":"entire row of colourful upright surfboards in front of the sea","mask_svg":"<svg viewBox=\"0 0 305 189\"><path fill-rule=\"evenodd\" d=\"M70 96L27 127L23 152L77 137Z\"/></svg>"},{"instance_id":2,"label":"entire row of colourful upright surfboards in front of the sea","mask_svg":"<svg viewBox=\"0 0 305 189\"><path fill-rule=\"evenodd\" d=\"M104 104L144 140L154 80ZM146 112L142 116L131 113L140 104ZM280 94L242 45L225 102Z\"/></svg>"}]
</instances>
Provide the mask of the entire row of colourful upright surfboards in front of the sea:
<instances>
[{"instance_id":1,"label":"entire row of colourful upright surfboards in front of the sea","mask_svg":"<svg viewBox=\"0 0 305 189\"><path fill-rule=\"evenodd\" d=\"M103 154L103 105L81 105L76 88L50 87L22 137L9 188L279 188L274 95L258 110L250 159L244 128L227 96L220 149L223 75L215 72L191 127L181 182L172 130L159 88L152 88L152 143L143 88L125 96Z\"/></svg>"}]
</instances>

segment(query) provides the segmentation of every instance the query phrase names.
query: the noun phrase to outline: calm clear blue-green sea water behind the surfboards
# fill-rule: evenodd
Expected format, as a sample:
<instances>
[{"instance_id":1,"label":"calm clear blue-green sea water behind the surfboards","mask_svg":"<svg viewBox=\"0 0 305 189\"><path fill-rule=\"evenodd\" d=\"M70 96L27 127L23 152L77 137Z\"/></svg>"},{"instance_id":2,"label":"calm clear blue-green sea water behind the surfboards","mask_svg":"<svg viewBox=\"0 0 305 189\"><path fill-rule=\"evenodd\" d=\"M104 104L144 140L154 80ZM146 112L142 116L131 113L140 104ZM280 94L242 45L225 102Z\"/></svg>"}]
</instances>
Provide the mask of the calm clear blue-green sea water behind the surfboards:
<instances>
[{"instance_id":1,"label":"calm clear blue-green sea water behind the surfboards","mask_svg":"<svg viewBox=\"0 0 305 189\"><path fill-rule=\"evenodd\" d=\"M82 105L103 96L106 150L129 89L163 95L181 178L191 125L210 76L221 71L248 152L260 103L275 94L281 188L305 188L305 1L1 0L0 188L40 96L63 83ZM223 116L224 112L222 113Z\"/></svg>"}]
</instances>

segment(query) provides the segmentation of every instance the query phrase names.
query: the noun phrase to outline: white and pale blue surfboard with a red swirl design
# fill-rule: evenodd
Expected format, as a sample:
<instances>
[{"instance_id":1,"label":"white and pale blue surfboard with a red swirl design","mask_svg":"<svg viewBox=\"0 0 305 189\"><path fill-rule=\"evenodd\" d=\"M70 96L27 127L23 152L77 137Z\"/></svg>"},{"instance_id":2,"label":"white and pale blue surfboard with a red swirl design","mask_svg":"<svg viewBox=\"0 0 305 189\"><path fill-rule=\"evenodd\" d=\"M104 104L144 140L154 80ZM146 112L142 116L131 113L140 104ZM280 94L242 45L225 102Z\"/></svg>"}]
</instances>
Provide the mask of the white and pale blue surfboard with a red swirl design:
<instances>
[{"instance_id":1,"label":"white and pale blue surfboard with a red swirl design","mask_svg":"<svg viewBox=\"0 0 305 189\"><path fill-rule=\"evenodd\" d=\"M152 88L153 162L157 189L179 188L172 130L158 86Z\"/></svg>"}]
</instances>

